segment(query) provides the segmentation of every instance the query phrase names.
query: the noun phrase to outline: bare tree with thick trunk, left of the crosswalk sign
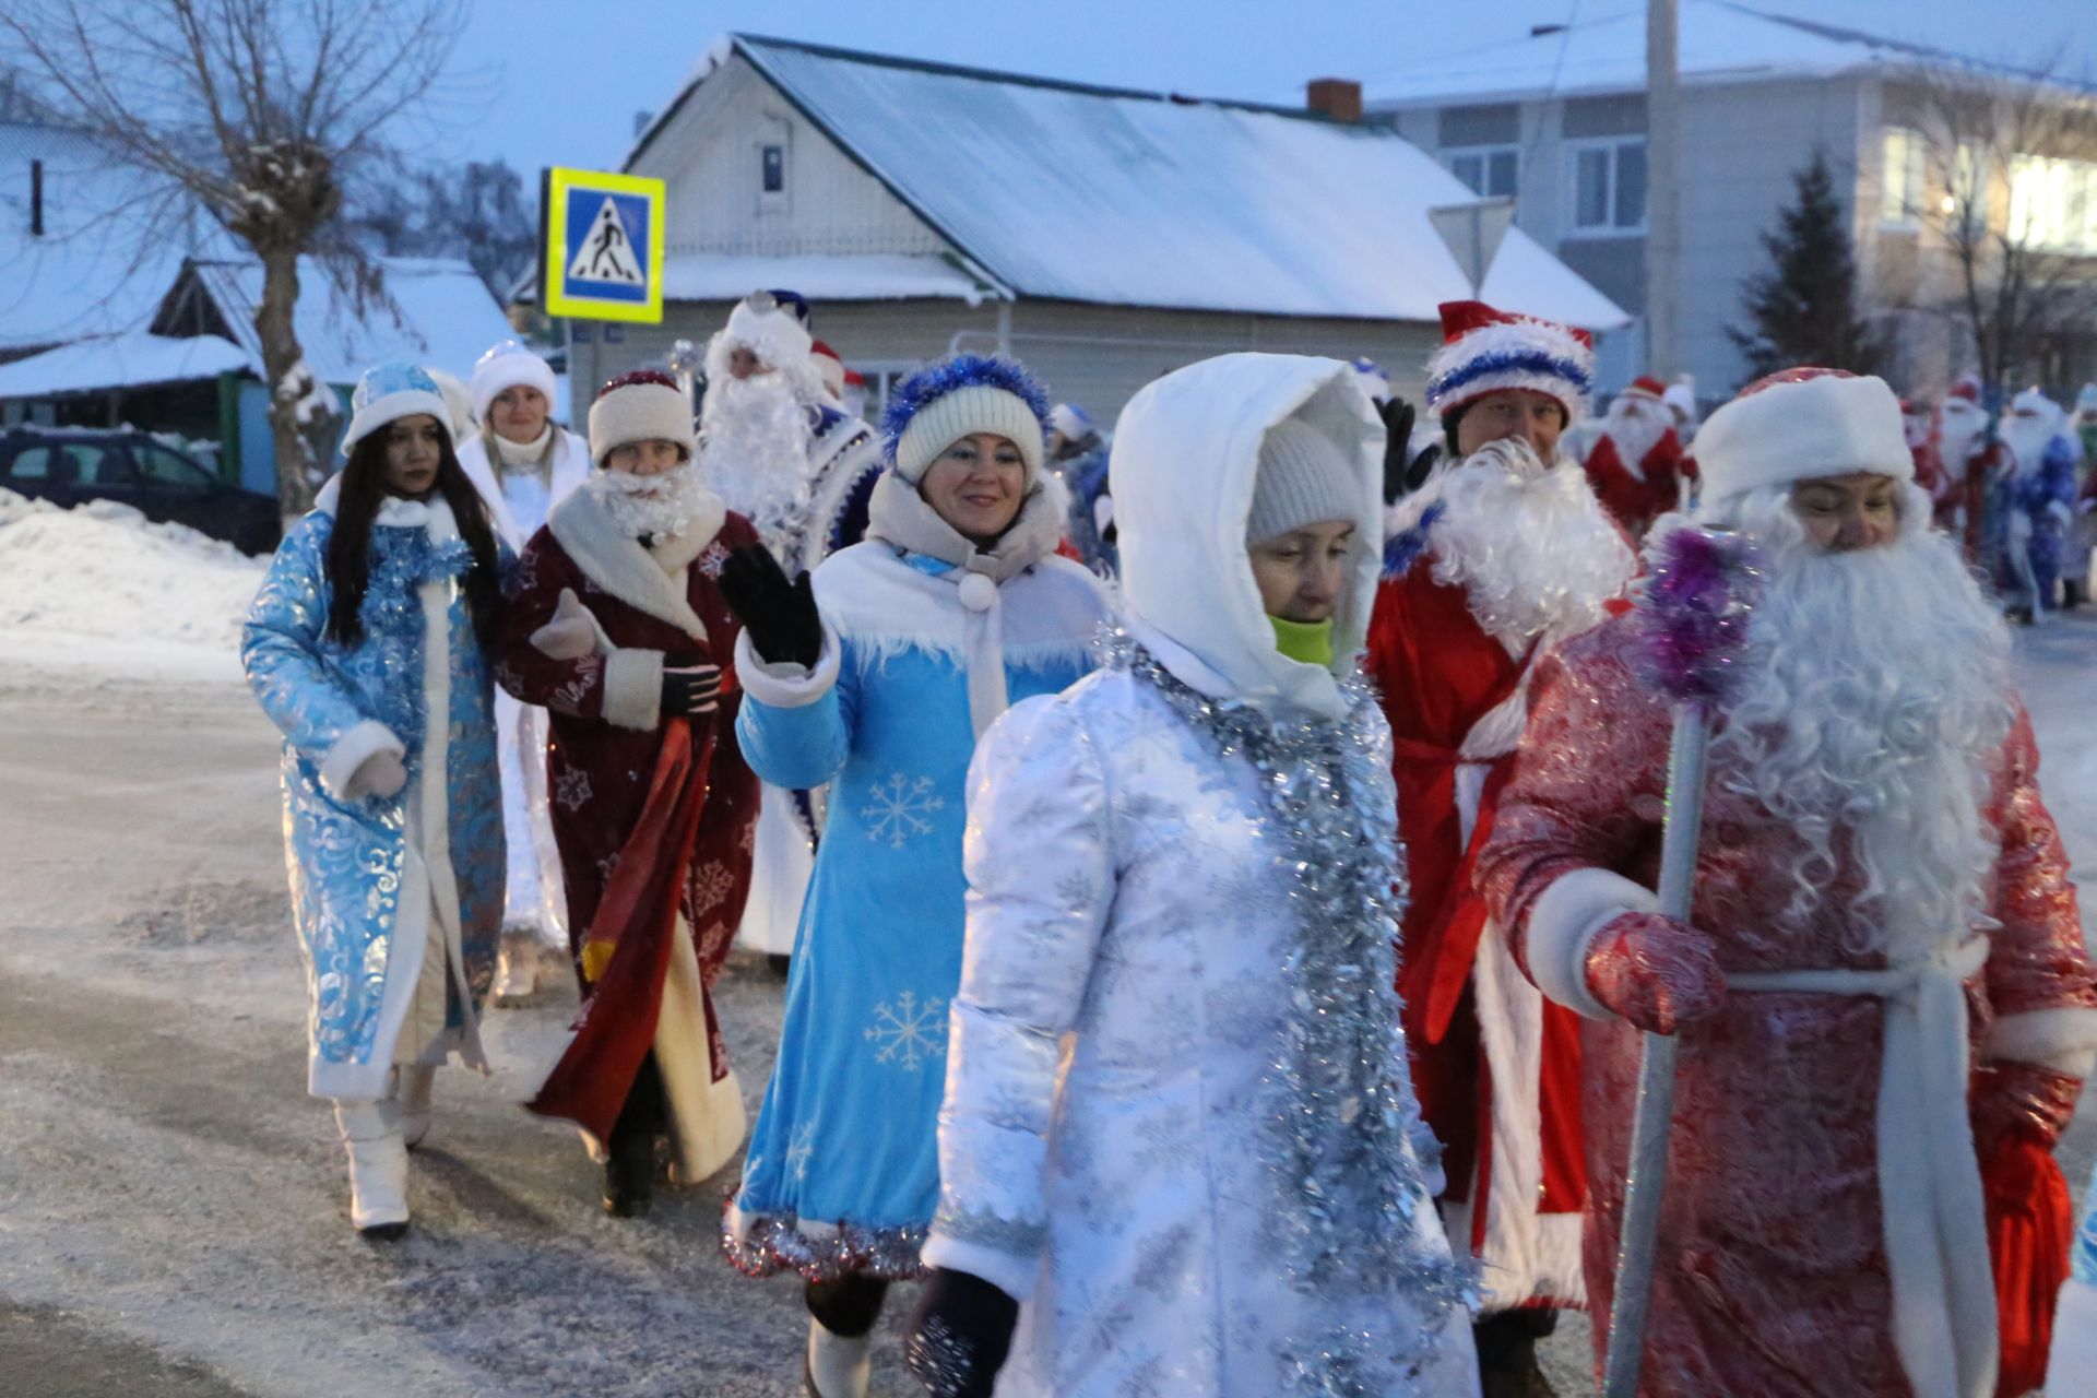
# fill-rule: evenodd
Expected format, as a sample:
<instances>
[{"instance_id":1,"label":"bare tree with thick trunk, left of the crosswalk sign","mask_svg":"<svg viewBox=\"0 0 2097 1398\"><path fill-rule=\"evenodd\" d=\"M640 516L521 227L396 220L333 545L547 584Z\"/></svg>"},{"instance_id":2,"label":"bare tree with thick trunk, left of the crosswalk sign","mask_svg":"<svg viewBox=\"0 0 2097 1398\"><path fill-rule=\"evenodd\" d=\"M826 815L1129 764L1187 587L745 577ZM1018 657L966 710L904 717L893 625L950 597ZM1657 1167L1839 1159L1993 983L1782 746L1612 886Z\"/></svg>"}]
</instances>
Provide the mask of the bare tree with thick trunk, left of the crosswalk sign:
<instances>
[{"instance_id":1,"label":"bare tree with thick trunk, left of the crosswalk sign","mask_svg":"<svg viewBox=\"0 0 2097 1398\"><path fill-rule=\"evenodd\" d=\"M384 300L340 218L344 189L436 90L461 0L6 0L0 36L40 105L143 176L157 210L201 207L262 262L256 335L277 497L312 501L336 400L298 342L300 258ZM147 233L151 237L151 233Z\"/></svg>"}]
</instances>

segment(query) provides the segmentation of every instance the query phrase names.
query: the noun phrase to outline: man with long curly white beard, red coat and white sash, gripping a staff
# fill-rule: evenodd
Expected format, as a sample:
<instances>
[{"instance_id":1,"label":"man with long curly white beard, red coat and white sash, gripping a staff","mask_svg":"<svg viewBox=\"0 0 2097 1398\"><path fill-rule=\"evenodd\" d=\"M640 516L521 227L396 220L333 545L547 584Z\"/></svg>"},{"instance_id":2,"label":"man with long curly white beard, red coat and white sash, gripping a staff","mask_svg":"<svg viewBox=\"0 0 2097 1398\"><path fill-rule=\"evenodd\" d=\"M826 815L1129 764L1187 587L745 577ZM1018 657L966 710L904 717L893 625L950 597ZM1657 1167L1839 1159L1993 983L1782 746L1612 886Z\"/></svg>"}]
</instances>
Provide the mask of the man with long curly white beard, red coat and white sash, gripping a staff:
<instances>
[{"instance_id":1,"label":"man with long curly white beard, red coat and white sash, gripping a staff","mask_svg":"<svg viewBox=\"0 0 2097 1398\"><path fill-rule=\"evenodd\" d=\"M1883 381L1764 379L1696 457L1696 518L1759 545L1764 587L1688 922L1650 893L1671 719L1631 618L1543 662L1478 859L1525 970L1585 1017L1590 1299L1613 1285L1640 1031L1678 1033L1640 1392L2024 1394L2066 1272L2051 1149L2097 977L2009 633L1929 528Z\"/></svg>"}]
</instances>

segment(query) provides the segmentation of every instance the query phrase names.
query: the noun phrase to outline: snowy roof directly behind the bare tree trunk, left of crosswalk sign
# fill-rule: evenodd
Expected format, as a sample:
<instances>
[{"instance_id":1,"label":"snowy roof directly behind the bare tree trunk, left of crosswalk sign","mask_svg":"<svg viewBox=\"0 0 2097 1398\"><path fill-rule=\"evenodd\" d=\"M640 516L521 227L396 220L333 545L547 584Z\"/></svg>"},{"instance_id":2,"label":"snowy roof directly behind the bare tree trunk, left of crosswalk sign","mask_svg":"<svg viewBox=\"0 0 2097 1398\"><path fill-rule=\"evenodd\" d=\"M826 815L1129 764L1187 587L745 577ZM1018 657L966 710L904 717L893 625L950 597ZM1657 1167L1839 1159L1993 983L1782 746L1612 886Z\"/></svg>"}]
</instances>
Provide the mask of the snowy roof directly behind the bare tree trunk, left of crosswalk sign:
<instances>
[{"instance_id":1,"label":"snowy roof directly behind the bare tree trunk, left of crosswalk sign","mask_svg":"<svg viewBox=\"0 0 2097 1398\"><path fill-rule=\"evenodd\" d=\"M350 293L319 262L300 258L298 340L306 365L323 384L354 384L365 369L390 358L449 369L463 379L489 346L516 337L487 283L466 262L382 258L380 268L398 314L377 302L359 312ZM187 275L210 296L233 340L260 365L262 337L254 316L262 302L262 264L199 260L189 264ZM164 310L176 293L168 296Z\"/></svg>"}]
</instances>

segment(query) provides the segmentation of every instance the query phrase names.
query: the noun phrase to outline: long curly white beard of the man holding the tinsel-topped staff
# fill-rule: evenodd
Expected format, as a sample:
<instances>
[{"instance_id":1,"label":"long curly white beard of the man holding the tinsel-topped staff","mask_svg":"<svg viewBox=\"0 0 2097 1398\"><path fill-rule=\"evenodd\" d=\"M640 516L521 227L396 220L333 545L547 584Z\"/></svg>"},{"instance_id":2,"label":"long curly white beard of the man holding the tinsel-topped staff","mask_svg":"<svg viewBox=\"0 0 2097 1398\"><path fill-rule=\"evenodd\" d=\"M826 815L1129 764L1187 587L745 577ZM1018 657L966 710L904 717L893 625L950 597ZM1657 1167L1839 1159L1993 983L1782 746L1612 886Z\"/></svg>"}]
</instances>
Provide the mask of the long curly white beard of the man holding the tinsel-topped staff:
<instances>
[{"instance_id":1,"label":"long curly white beard of the man holding the tinsel-topped staff","mask_svg":"<svg viewBox=\"0 0 2097 1398\"><path fill-rule=\"evenodd\" d=\"M1818 553L1789 486L1711 522L1755 537L1766 581L1749 677L1713 740L1728 786L1791 826L1785 922L1803 929L1845 861L1862 874L1843 945L1894 964L1986 926L1998 838L1984 820L2015 719L2009 629L1906 486L1900 537Z\"/></svg>"}]
</instances>

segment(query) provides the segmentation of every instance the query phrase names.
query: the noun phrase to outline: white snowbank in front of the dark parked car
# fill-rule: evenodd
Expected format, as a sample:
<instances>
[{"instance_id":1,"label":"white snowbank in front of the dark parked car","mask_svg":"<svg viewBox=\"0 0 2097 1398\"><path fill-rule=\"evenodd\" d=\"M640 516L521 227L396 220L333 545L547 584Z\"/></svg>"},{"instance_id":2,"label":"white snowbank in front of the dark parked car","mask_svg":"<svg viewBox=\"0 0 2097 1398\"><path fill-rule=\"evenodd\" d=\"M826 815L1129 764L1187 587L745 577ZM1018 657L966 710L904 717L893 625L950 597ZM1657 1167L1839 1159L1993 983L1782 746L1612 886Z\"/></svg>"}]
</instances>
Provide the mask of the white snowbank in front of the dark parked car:
<instances>
[{"instance_id":1,"label":"white snowbank in front of the dark parked car","mask_svg":"<svg viewBox=\"0 0 2097 1398\"><path fill-rule=\"evenodd\" d=\"M115 501L59 509L0 490L0 631L231 652L266 566Z\"/></svg>"}]
</instances>

